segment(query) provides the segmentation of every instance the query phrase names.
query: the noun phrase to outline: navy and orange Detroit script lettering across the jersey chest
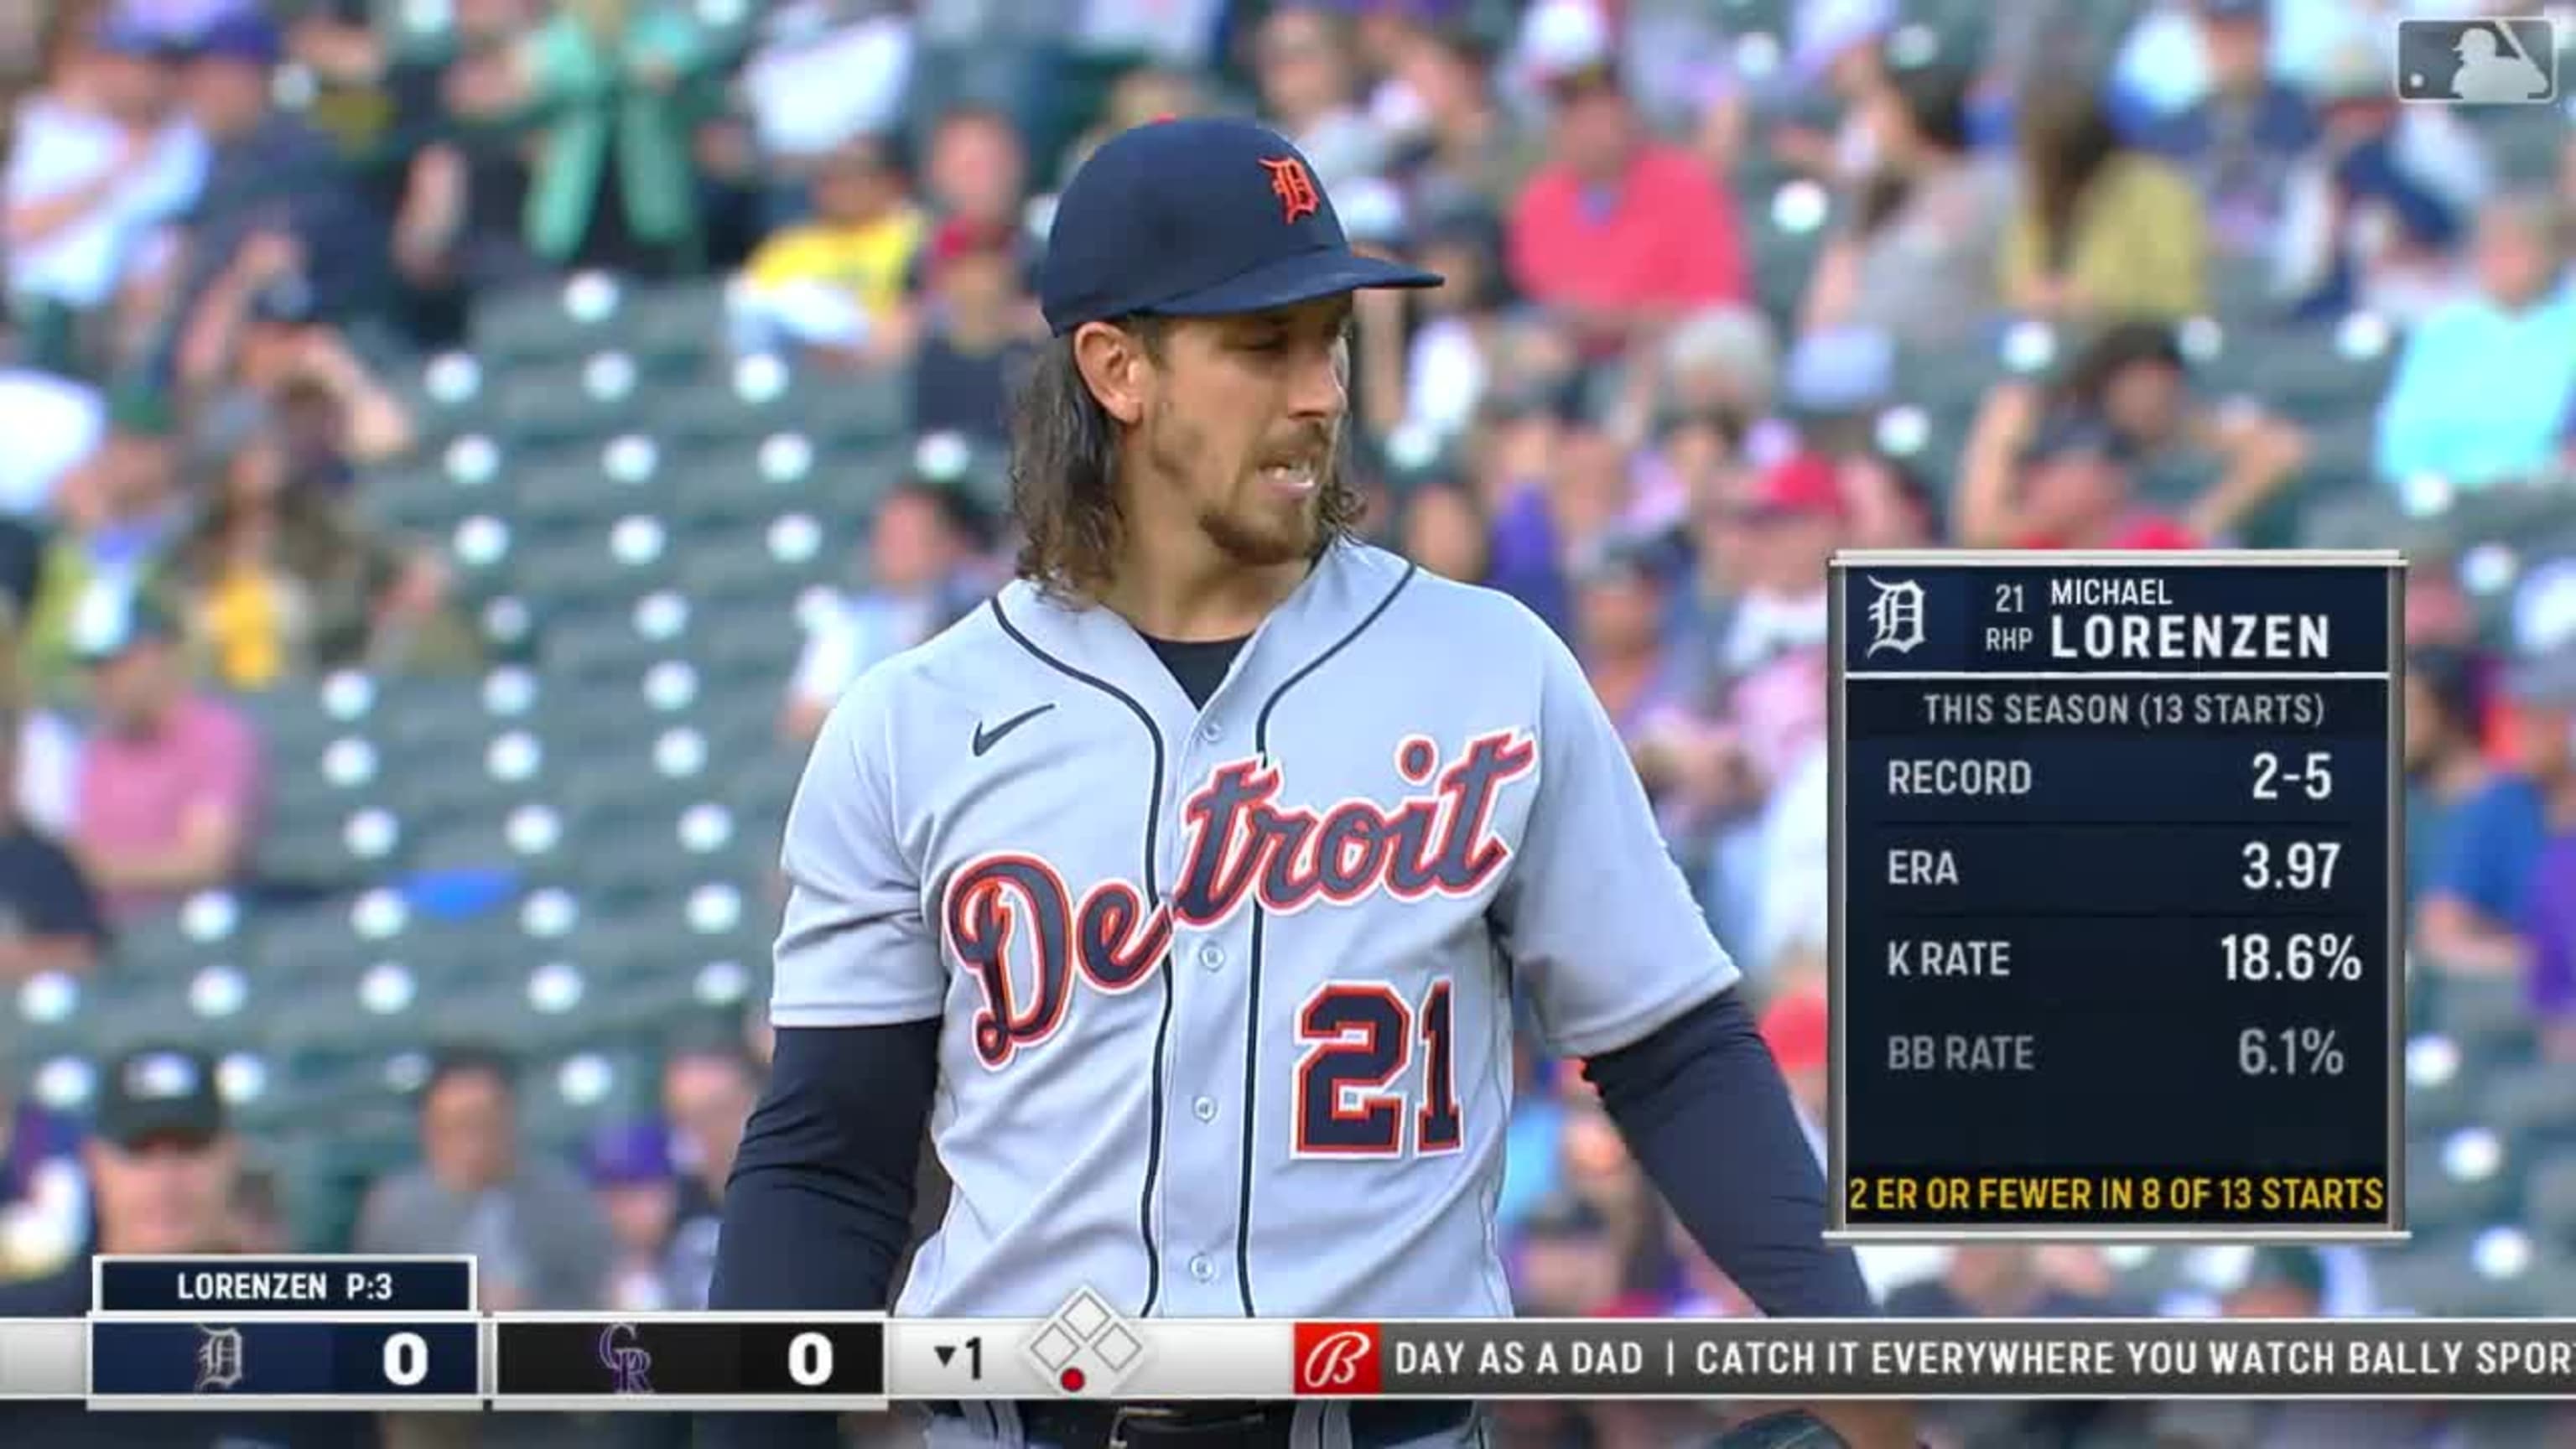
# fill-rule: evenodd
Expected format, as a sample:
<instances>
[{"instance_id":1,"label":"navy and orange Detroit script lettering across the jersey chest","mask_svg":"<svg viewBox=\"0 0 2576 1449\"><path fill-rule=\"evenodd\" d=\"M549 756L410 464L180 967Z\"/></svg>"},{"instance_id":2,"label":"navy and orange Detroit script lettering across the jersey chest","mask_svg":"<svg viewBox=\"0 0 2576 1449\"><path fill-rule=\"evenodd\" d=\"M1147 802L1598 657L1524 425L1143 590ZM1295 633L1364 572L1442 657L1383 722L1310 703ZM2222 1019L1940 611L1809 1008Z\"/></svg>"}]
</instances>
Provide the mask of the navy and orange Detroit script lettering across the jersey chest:
<instances>
[{"instance_id":1,"label":"navy and orange Detroit script lettering across the jersey chest","mask_svg":"<svg viewBox=\"0 0 2576 1449\"><path fill-rule=\"evenodd\" d=\"M1262 761L1218 766L1182 810L1190 851L1180 884L1146 908L1133 882L1105 879L1077 902L1043 856L994 851L948 882L940 910L948 949L976 972L984 1008L974 1049L987 1067L1005 1067L1064 1026L1079 972L1103 993L1123 993L1154 975L1172 946L1172 928L1208 928L1260 895L1280 915L1314 902L1352 905L1373 892L1394 900L1473 895L1512 859L1492 833L1502 786L1538 768L1538 745L1522 730L1476 735L1455 763L1422 735L1396 745L1396 773L1417 786L1383 810L1345 799L1329 810L1278 804L1280 771ZM1010 951L1028 933L1036 975L1028 993L1010 980Z\"/></svg>"}]
</instances>

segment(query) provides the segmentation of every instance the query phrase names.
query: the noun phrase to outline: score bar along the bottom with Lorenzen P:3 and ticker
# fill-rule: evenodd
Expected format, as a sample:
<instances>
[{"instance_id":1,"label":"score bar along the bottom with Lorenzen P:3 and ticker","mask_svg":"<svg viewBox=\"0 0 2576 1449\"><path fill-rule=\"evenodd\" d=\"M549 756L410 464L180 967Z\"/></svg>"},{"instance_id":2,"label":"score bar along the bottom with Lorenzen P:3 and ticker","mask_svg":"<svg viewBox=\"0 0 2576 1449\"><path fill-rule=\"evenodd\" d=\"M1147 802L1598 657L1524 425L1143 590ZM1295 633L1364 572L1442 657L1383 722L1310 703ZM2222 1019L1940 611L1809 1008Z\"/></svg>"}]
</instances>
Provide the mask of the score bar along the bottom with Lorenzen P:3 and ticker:
<instances>
[{"instance_id":1,"label":"score bar along the bottom with Lorenzen P:3 and ticker","mask_svg":"<svg viewBox=\"0 0 2576 1449\"><path fill-rule=\"evenodd\" d=\"M1172 1320L471 1312L466 1258L113 1258L0 1320L8 1400L224 1410L881 1410L963 1400L2571 1397L2571 1320ZM1113 1369L1121 1359L1126 1366ZM1082 1372L1069 1372L1082 1369ZM1100 1369L1100 1377L1092 1374Z\"/></svg>"}]
</instances>

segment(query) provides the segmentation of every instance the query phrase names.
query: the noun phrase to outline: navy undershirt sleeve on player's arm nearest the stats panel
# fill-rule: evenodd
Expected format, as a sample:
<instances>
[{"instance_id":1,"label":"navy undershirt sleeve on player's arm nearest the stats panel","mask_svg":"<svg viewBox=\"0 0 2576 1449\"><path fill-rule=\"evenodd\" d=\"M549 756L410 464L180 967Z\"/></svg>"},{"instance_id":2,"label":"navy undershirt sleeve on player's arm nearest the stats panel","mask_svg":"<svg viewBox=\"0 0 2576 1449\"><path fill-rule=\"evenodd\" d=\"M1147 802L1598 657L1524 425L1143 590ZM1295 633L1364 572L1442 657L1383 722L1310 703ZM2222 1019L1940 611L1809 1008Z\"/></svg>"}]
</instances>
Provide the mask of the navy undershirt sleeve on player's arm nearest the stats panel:
<instances>
[{"instance_id":1,"label":"navy undershirt sleeve on player's arm nearest the stats panel","mask_svg":"<svg viewBox=\"0 0 2576 1449\"><path fill-rule=\"evenodd\" d=\"M1878 1312L1852 1253L1824 1243L1824 1173L1739 993L1587 1057L1584 1080L1682 1227L1765 1315Z\"/></svg>"}]
</instances>

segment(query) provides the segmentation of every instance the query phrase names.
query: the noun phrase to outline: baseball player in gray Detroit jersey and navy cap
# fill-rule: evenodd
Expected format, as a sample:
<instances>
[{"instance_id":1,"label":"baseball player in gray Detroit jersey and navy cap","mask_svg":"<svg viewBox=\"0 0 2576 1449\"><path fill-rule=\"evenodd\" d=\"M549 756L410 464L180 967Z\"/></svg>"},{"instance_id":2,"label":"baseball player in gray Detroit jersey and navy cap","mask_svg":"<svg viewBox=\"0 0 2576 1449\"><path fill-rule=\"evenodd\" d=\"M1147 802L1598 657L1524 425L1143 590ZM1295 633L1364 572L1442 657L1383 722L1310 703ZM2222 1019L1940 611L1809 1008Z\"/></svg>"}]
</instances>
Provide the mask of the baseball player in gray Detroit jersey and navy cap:
<instances>
[{"instance_id":1,"label":"baseball player in gray Detroit jersey and navy cap","mask_svg":"<svg viewBox=\"0 0 2576 1449\"><path fill-rule=\"evenodd\" d=\"M1041 271L1018 580L832 709L714 1305L1512 1312L1512 995L1772 1315L1865 1315L1736 967L1566 647L1352 539L1355 255L1221 119L1092 155ZM1883 1410L1878 1410L1883 1413ZM1886 1423L1837 1413L1847 1439ZM1893 1441L1911 1441L1901 1434ZM770 1418L744 1441L781 1444ZM940 1405L933 1444L1476 1444L1473 1405Z\"/></svg>"}]
</instances>

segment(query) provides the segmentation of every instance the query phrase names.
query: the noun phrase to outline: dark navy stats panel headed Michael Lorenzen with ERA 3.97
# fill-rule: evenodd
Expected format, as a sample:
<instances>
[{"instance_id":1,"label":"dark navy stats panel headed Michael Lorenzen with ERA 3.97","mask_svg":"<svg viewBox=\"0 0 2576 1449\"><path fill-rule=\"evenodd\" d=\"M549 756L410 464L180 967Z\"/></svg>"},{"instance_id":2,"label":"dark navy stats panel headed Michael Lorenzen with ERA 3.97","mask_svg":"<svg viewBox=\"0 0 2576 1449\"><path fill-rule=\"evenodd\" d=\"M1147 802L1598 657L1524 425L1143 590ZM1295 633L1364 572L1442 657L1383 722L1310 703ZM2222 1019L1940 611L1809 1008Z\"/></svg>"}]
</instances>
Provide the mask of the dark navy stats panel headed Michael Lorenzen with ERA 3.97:
<instances>
[{"instance_id":1,"label":"dark navy stats panel headed Michael Lorenzen with ERA 3.97","mask_svg":"<svg viewBox=\"0 0 2576 1449\"><path fill-rule=\"evenodd\" d=\"M1832 603L1834 1238L2401 1238L2398 554Z\"/></svg>"}]
</instances>

